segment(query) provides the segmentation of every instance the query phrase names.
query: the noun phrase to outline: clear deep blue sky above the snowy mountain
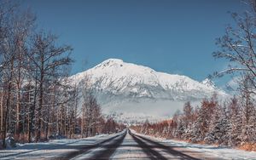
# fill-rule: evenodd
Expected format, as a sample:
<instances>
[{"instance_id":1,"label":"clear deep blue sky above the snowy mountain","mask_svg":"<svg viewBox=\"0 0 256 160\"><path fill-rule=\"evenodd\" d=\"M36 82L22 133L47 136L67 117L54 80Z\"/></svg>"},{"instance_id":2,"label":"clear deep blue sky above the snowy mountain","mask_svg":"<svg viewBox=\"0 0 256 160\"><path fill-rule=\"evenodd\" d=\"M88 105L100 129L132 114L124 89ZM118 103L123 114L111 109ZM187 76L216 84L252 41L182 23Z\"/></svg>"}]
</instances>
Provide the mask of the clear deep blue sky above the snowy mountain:
<instances>
[{"instance_id":1,"label":"clear deep blue sky above the snowy mountain","mask_svg":"<svg viewBox=\"0 0 256 160\"><path fill-rule=\"evenodd\" d=\"M212 57L215 38L233 22L228 11L241 13L246 8L240 0L22 2L37 14L39 28L73 46L72 74L118 58L198 81L226 66ZM221 86L226 81L215 82Z\"/></svg>"}]
</instances>

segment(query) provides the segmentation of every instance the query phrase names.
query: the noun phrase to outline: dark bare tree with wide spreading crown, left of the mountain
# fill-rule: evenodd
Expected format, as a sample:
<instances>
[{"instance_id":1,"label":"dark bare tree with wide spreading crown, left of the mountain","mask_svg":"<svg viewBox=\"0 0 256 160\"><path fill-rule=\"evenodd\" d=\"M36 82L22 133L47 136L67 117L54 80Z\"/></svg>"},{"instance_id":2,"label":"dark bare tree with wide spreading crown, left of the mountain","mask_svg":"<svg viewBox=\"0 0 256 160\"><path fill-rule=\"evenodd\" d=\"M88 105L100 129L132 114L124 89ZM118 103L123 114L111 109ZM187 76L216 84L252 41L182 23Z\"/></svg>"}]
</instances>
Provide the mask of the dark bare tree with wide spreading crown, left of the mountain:
<instances>
[{"instance_id":1,"label":"dark bare tree with wide spreading crown, left of the mountain","mask_svg":"<svg viewBox=\"0 0 256 160\"><path fill-rule=\"evenodd\" d=\"M36 141L41 137L42 109L47 105L45 99L50 83L57 84L56 77L61 78L61 67L68 66L73 60L69 57L73 50L68 45L56 45L57 37L51 33L41 31L32 38L32 54L29 58L35 68L35 79L38 83L38 108L37 108L37 136ZM55 78L53 78L55 77ZM55 79L55 82L51 80Z\"/></svg>"}]
</instances>

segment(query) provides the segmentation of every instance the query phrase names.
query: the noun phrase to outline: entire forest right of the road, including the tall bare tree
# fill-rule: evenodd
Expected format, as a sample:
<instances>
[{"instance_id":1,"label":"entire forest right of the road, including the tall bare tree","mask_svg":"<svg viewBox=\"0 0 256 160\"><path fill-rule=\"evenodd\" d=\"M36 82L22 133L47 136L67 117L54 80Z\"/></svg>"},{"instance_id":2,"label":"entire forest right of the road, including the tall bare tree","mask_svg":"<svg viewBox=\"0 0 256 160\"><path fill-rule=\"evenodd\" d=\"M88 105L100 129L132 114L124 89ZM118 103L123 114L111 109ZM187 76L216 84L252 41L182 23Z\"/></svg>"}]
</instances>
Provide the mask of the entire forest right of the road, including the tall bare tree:
<instances>
[{"instance_id":1,"label":"entire forest right of the road, including the tall bare tree","mask_svg":"<svg viewBox=\"0 0 256 160\"><path fill-rule=\"evenodd\" d=\"M143 134L256 151L256 2L246 3L248 9L243 14L231 13L235 25L227 26L224 36L216 39L218 51L212 54L229 65L210 77L231 76L237 89L227 87L234 96L218 100L213 94L199 106L191 106L188 101L171 120L146 121L133 129Z\"/></svg>"}]
</instances>

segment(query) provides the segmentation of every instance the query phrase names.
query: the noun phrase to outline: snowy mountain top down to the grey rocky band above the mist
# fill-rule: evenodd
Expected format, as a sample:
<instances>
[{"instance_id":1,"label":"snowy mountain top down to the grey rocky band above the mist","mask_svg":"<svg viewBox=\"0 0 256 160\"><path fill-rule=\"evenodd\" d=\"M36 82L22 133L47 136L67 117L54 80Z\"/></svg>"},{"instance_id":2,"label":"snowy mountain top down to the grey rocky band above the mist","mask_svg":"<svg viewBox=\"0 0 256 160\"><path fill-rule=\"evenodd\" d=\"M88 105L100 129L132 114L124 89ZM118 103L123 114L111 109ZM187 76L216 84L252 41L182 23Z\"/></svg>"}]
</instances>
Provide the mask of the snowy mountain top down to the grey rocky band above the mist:
<instances>
[{"instance_id":1,"label":"snowy mountain top down to the grey rocky band above the mist","mask_svg":"<svg viewBox=\"0 0 256 160\"><path fill-rule=\"evenodd\" d=\"M199 100L214 92L224 94L209 79L199 83L186 76L154 71L147 66L138 66L119 59L104 60L72 78L79 83L85 76L90 77L91 87L96 90L96 94L121 96L125 100Z\"/></svg>"}]
</instances>

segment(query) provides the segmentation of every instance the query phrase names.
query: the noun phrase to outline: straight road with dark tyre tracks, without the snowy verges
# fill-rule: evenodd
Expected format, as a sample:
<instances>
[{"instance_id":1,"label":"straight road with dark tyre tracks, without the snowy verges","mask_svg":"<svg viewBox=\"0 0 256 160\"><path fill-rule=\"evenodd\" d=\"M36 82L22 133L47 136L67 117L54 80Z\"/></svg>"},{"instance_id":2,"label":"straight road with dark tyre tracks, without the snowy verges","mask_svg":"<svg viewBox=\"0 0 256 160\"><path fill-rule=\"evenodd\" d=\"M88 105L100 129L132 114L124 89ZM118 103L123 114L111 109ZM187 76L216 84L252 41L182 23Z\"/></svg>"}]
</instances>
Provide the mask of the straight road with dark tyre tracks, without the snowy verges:
<instances>
[{"instance_id":1,"label":"straight road with dark tyre tracks, without the snowy verges","mask_svg":"<svg viewBox=\"0 0 256 160\"><path fill-rule=\"evenodd\" d=\"M191 156L192 155L192 156ZM130 130L96 146L87 146L80 151L59 159L205 159L193 151L177 150L158 141L132 134ZM207 158L214 159L214 158Z\"/></svg>"}]
</instances>

